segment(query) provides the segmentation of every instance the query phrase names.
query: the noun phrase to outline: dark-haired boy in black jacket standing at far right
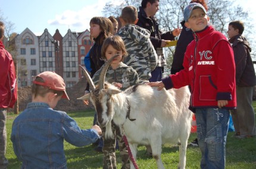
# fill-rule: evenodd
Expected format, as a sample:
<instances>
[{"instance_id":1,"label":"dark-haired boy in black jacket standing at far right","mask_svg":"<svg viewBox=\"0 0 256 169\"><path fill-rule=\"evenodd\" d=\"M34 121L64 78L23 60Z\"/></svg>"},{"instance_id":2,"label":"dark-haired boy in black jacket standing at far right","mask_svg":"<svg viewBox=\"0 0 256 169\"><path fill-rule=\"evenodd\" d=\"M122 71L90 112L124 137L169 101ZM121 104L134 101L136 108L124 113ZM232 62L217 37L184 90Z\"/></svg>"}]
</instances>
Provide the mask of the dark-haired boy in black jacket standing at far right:
<instances>
[{"instance_id":1,"label":"dark-haired boy in black jacket standing at far right","mask_svg":"<svg viewBox=\"0 0 256 169\"><path fill-rule=\"evenodd\" d=\"M229 23L227 34L236 63L236 98L237 110L232 111L232 119L236 130L236 138L251 138L256 135L254 109L252 107L252 93L256 85L256 76L251 47L242 36L244 27L241 21Z\"/></svg>"}]
</instances>

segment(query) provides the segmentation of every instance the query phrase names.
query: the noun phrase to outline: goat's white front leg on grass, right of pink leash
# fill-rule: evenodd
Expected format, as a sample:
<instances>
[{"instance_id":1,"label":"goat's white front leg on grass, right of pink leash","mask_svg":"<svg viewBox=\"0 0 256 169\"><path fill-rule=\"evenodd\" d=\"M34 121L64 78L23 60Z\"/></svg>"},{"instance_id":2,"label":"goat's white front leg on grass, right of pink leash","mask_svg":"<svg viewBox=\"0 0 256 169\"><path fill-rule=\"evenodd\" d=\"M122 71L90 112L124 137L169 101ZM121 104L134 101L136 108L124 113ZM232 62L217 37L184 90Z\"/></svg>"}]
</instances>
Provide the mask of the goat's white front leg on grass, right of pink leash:
<instances>
[{"instance_id":1,"label":"goat's white front leg on grass, right of pink leash","mask_svg":"<svg viewBox=\"0 0 256 169\"><path fill-rule=\"evenodd\" d=\"M159 132L161 133L161 132ZM155 158L155 161L157 162L157 168L163 169L164 164L161 159L161 152L162 152L162 139L161 135L154 136L154 138L151 138L150 145L152 149L152 157Z\"/></svg>"}]
</instances>

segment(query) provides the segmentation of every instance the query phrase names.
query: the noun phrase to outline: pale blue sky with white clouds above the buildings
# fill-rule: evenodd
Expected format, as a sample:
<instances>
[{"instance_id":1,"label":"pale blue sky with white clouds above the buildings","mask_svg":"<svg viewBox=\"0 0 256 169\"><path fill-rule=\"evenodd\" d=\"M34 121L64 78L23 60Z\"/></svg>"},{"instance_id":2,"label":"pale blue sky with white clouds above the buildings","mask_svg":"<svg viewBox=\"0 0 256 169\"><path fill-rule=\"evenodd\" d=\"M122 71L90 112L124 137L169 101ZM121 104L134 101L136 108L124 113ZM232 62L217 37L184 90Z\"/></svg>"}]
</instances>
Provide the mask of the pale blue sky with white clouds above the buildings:
<instances>
[{"instance_id":1,"label":"pale blue sky with white clouds above the buildings","mask_svg":"<svg viewBox=\"0 0 256 169\"><path fill-rule=\"evenodd\" d=\"M71 31L85 31L89 29L89 21L92 17L102 16L102 8L111 0L0 0L0 10L15 25L14 32L20 34L25 28L29 28L37 36L40 36L45 28L52 35L58 28L61 35ZM120 3L121 0L112 0ZM256 11L252 9L254 0L236 0L244 9L251 10L250 17L254 18L252 25L256 25Z\"/></svg>"}]
</instances>

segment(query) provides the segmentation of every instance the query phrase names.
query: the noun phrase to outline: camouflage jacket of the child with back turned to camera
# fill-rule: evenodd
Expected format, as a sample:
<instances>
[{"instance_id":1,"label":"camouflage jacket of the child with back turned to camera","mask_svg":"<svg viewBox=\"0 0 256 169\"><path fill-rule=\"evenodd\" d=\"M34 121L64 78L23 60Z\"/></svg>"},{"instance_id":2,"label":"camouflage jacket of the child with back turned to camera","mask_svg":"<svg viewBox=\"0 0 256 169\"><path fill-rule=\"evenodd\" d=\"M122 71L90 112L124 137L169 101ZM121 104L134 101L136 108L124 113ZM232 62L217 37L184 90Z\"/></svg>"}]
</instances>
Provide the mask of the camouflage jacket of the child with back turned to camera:
<instances>
[{"instance_id":1,"label":"camouflage jacket of the child with back turned to camera","mask_svg":"<svg viewBox=\"0 0 256 169\"><path fill-rule=\"evenodd\" d=\"M150 32L130 24L120 28L117 35L123 39L129 54L123 62L137 71L140 80L147 81L151 78L151 72L157 66L158 59L149 39Z\"/></svg>"}]
</instances>

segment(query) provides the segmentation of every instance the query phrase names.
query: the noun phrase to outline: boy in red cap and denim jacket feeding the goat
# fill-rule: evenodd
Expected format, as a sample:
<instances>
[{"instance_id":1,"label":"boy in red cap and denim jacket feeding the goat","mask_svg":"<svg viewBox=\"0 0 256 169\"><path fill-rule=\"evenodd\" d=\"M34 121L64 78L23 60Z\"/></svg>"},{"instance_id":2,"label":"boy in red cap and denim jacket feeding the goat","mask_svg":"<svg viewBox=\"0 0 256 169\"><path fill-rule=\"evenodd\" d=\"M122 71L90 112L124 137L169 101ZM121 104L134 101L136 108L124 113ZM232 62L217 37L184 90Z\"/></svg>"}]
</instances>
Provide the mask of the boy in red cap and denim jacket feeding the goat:
<instances>
[{"instance_id":1,"label":"boy in red cap and denim jacket feeding the goat","mask_svg":"<svg viewBox=\"0 0 256 169\"><path fill-rule=\"evenodd\" d=\"M69 100L65 83L55 72L42 72L32 84L32 102L13 122L11 141L21 168L67 168L63 141L85 146L100 138L99 126L82 130L64 111L53 110Z\"/></svg>"}]
</instances>

